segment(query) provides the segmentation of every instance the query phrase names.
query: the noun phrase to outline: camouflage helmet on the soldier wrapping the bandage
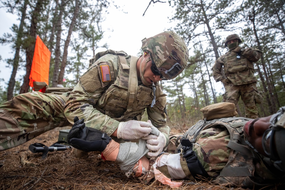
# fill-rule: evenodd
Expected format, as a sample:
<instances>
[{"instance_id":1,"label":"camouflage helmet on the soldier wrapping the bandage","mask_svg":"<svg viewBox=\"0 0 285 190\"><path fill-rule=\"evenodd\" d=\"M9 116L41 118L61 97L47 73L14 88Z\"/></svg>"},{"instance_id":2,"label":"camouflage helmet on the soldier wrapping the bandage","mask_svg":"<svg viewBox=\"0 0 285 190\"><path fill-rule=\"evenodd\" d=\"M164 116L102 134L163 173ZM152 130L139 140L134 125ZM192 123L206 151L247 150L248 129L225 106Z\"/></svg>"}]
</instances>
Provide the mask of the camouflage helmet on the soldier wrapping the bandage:
<instances>
[{"instance_id":1,"label":"camouflage helmet on the soldier wrapping the bandage","mask_svg":"<svg viewBox=\"0 0 285 190\"><path fill-rule=\"evenodd\" d=\"M166 79L173 79L188 63L188 49L184 39L174 31L166 31L142 40L142 50L150 54L158 71Z\"/></svg>"}]
</instances>

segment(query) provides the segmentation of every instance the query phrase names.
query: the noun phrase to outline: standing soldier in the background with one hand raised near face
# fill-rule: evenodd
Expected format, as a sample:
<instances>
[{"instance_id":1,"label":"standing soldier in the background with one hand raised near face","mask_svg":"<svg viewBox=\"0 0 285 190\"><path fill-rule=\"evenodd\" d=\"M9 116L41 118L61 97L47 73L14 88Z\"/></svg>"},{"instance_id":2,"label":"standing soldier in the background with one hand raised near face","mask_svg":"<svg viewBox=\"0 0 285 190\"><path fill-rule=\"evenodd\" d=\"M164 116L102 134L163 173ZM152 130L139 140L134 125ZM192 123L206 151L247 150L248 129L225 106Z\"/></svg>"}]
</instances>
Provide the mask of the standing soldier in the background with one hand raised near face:
<instances>
[{"instance_id":1,"label":"standing soldier in the background with one hand raised near face","mask_svg":"<svg viewBox=\"0 0 285 190\"><path fill-rule=\"evenodd\" d=\"M260 59L262 52L255 48L242 48L239 46L241 42L237 34L227 36L225 47L229 48L229 52L216 60L212 68L213 77L216 82L221 81L224 84L223 101L234 103L237 110L241 96L245 105L245 117L256 119L256 103L261 103L263 98L256 87L257 78L254 75L253 62Z\"/></svg>"}]
</instances>

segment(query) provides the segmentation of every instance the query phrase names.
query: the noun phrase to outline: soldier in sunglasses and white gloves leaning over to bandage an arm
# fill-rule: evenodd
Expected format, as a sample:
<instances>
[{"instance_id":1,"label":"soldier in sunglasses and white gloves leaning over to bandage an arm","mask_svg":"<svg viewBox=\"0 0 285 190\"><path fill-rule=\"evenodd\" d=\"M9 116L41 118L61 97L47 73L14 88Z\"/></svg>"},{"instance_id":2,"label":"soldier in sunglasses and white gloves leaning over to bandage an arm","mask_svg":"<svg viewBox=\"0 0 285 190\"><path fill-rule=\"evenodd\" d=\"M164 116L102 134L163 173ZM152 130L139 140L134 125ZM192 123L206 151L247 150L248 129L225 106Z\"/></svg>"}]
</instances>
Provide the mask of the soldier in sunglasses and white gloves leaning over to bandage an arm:
<instances>
[{"instance_id":1,"label":"soldier in sunglasses and white gloves leaning over to bandage an arm","mask_svg":"<svg viewBox=\"0 0 285 190\"><path fill-rule=\"evenodd\" d=\"M67 126L75 116L113 139L139 139L151 131L150 123L140 121L146 109L148 119L159 130L157 143L148 145L154 151L150 155L160 154L169 143L170 128L166 125L166 95L158 82L182 72L188 49L173 31L144 38L142 43L140 57L113 50L96 54L71 92L30 92L1 104L0 151Z\"/></svg>"}]
</instances>

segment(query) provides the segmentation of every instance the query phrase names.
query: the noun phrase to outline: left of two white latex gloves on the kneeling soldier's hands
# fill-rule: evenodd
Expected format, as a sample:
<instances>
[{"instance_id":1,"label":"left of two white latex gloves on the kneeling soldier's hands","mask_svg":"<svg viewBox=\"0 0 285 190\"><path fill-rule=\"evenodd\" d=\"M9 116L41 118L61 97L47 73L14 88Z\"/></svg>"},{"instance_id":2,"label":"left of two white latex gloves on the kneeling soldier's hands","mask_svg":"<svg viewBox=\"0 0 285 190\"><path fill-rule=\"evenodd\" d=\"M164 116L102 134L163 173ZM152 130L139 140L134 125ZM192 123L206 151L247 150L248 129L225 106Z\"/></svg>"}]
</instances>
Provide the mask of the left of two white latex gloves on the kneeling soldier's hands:
<instances>
[{"instance_id":1,"label":"left of two white latex gloves on the kneeling soldier's hands","mask_svg":"<svg viewBox=\"0 0 285 190\"><path fill-rule=\"evenodd\" d=\"M117 137L133 140L147 136L151 132L152 125L144 121L130 120L120 122L117 129Z\"/></svg>"}]
</instances>

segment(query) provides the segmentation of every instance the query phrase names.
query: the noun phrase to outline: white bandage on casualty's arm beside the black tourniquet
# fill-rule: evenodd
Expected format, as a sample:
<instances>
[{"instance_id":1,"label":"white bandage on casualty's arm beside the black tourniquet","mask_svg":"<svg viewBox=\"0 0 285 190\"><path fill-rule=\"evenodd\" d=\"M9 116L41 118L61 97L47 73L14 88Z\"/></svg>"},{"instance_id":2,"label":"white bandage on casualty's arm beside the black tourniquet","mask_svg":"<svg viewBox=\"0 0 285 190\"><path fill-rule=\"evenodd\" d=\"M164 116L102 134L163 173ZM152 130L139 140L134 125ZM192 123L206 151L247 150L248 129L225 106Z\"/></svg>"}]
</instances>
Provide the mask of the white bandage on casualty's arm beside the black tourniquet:
<instances>
[{"instance_id":1,"label":"white bandage on casualty's arm beside the black tourniquet","mask_svg":"<svg viewBox=\"0 0 285 190\"><path fill-rule=\"evenodd\" d=\"M154 163L153 167L156 168L165 165L167 166L172 179L184 179L187 177L180 164L180 153L161 155L159 160Z\"/></svg>"}]
</instances>

